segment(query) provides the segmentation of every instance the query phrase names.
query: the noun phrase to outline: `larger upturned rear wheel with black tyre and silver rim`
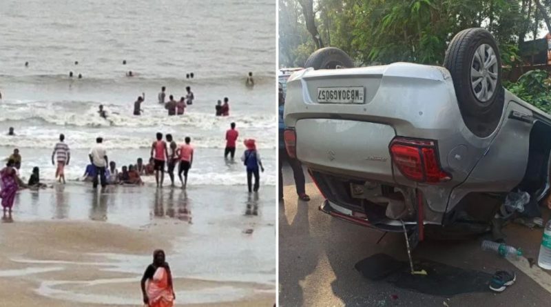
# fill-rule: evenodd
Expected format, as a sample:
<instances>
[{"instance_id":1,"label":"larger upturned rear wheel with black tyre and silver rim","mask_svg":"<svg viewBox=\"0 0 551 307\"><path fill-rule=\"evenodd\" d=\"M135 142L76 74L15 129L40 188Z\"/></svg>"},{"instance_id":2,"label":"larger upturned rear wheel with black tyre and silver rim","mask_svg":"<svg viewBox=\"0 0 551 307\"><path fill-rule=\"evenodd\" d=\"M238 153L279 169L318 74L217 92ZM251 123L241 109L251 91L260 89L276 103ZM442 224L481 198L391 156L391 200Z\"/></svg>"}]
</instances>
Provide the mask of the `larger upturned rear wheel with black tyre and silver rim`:
<instances>
[{"instance_id":1,"label":"larger upturned rear wheel with black tyre and silver rim","mask_svg":"<svg viewBox=\"0 0 551 307\"><path fill-rule=\"evenodd\" d=\"M494 37L483 28L455 34L444 67L451 73L465 125L478 137L488 137L501 119L504 99L501 59Z\"/></svg>"}]
</instances>

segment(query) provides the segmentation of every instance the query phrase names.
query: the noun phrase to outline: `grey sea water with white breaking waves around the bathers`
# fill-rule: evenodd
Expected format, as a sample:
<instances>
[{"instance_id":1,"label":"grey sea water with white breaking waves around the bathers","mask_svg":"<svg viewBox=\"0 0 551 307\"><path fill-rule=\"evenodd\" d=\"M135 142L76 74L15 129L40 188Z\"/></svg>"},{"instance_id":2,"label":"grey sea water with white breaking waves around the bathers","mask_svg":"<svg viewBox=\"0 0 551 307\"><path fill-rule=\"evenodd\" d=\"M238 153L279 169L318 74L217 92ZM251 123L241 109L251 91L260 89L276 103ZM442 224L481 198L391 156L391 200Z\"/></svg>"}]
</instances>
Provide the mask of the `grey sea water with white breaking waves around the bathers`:
<instances>
[{"instance_id":1,"label":"grey sea water with white breaking waves around the bathers","mask_svg":"<svg viewBox=\"0 0 551 307\"><path fill-rule=\"evenodd\" d=\"M270 0L213 0L208 8L201 0L2 1L0 157L19 148L23 177L39 166L41 177L51 179L52 149L64 133L72 150L65 174L74 180L83 175L96 137L105 139L120 169L138 157L147 163L156 132L163 132L178 143L191 137L196 157L190 184L241 185L242 164L222 156L234 121L236 155L245 138L256 139L267 166L262 184L275 185L274 15ZM129 70L135 77L125 77ZM249 71L253 89L245 86ZM186 78L190 72L194 79ZM83 79L76 79L79 74ZM167 99L185 96L191 86L196 99L183 117L167 117L157 102L161 86ZM142 92L144 112L135 117ZM230 116L215 117L216 101L224 97ZM108 121L98 116L100 104ZM6 135L9 127L16 137Z\"/></svg>"}]
</instances>

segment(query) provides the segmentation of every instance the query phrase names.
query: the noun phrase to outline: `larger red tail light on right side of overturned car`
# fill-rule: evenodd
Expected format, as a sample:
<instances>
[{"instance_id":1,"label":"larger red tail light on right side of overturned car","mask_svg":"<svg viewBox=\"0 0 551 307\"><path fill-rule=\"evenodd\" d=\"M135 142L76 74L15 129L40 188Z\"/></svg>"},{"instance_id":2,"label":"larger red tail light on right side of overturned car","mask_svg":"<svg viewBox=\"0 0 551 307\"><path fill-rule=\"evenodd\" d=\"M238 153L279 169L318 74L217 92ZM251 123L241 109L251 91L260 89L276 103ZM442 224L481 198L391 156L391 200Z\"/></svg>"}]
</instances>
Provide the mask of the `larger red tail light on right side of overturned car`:
<instances>
[{"instance_id":1,"label":"larger red tail light on right side of overturned car","mask_svg":"<svg viewBox=\"0 0 551 307\"><path fill-rule=\"evenodd\" d=\"M440 168L435 141L396 138L391 142L393 162L402 175L413 181L448 181L451 176Z\"/></svg>"}]
</instances>

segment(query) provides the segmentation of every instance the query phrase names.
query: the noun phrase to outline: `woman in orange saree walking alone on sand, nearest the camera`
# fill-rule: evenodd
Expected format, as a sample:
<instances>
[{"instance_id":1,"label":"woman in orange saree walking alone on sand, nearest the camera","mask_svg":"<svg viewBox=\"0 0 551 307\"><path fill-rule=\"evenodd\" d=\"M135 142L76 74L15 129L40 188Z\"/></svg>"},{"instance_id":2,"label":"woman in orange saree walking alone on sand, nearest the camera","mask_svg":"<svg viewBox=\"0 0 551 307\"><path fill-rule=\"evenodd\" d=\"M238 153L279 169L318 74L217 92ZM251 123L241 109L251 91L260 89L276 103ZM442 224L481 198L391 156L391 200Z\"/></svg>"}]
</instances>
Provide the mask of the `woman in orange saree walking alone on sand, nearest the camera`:
<instances>
[{"instance_id":1,"label":"woman in orange saree walking alone on sand, nearest the camera","mask_svg":"<svg viewBox=\"0 0 551 307\"><path fill-rule=\"evenodd\" d=\"M155 250L153 263L147 266L142 281L143 302L149 307L172 307L174 305L174 288L172 275L168 263L165 261L165 252Z\"/></svg>"}]
</instances>

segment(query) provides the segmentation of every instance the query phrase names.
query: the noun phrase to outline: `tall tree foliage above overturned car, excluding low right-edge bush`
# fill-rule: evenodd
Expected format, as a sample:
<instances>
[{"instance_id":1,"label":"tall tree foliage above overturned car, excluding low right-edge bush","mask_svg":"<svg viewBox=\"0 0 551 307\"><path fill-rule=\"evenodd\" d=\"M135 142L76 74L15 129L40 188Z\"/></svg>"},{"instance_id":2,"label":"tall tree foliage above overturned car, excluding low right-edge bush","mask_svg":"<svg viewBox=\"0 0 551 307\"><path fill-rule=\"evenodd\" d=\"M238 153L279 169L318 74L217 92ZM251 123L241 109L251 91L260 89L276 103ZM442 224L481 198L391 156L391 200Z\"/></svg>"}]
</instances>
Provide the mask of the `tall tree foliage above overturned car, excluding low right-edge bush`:
<instances>
[{"instance_id":1,"label":"tall tree foliage above overturned car, excluding low right-edge bush","mask_svg":"<svg viewBox=\"0 0 551 307\"><path fill-rule=\"evenodd\" d=\"M308 32L300 18L300 10L292 19L299 26L284 23L286 9L296 7L299 0L280 1L280 37L282 27L295 31L301 41L280 41L280 58L286 66L300 66L303 52L309 46ZM301 0L304 1L304 0ZM528 34L536 25L534 7L528 15L528 0L317 0L316 24L326 46L341 48L363 65L408 61L441 64L453 36L466 28L483 27L499 43L504 66L519 63L519 35ZM541 0L551 3L551 0ZM533 3L533 1L530 1ZM541 18L539 18L541 20ZM303 30L301 30L301 28ZM284 32L284 31L283 31ZM311 40L311 39L310 39ZM313 51L313 50L311 50ZM293 56L295 55L295 56ZM298 58L300 57L300 59Z\"/></svg>"}]
</instances>

